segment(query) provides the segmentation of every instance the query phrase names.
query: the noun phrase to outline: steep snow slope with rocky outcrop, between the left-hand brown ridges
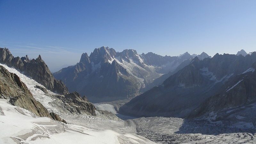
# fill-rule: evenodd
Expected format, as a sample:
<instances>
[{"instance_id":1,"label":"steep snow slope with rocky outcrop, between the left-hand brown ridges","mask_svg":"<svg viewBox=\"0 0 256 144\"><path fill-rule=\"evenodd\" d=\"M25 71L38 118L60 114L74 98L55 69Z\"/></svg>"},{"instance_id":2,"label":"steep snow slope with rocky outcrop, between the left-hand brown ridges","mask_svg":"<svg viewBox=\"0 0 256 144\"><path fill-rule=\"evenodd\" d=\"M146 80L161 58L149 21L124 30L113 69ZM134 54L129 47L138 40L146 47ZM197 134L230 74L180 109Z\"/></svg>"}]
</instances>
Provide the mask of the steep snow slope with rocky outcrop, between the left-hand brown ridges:
<instances>
[{"instance_id":1,"label":"steep snow slope with rocky outcrop, between the left-hand brown ridges","mask_svg":"<svg viewBox=\"0 0 256 144\"><path fill-rule=\"evenodd\" d=\"M52 116L56 117L56 114L82 114L95 116L95 107L90 103L86 97L83 98L79 93L73 92L66 95L56 94L47 90L43 85L37 83L34 79L25 76L14 68L10 68L4 64L8 71L15 73L22 82L28 87L28 90L32 93L33 97L39 101L48 111L52 112Z\"/></svg>"}]
</instances>

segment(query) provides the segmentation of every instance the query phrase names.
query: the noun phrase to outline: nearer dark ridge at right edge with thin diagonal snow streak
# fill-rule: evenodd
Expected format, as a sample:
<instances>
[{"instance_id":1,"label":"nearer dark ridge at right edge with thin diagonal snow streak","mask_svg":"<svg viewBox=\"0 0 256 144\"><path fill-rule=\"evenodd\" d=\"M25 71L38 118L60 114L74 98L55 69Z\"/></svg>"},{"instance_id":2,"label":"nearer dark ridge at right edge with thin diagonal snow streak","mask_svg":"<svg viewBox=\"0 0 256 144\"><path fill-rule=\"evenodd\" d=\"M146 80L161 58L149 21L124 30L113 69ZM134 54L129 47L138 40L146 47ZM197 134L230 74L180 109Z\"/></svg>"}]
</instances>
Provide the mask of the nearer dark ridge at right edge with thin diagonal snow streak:
<instances>
[{"instance_id":1,"label":"nearer dark ridge at right edge with thin diagonal snow streak","mask_svg":"<svg viewBox=\"0 0 256 144\"><path fill-rule=\"evenodd\" d=\"M207 115L211 112L219 113L225 109L236 108L250 104L256 100L256 63L242 74L228 79L219 90L219 93L206 99L202 105L196 108L190 117ZM221 119L218 115L215 118Z\"/></svg>"}]
</instances>

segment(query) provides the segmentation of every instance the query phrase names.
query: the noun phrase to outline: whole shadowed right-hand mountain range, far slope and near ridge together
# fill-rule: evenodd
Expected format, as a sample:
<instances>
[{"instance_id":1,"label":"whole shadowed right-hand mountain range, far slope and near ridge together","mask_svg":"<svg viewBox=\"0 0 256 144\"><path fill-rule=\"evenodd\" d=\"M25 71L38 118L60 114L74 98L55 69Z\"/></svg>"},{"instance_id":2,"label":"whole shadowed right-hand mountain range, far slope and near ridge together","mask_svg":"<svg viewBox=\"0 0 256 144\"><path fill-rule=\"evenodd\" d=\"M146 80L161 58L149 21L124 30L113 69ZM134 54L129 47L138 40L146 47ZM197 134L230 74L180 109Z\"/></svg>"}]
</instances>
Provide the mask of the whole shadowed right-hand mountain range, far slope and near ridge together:
<instances>
[{"instance_id":1,"label":"whole shadowed right-hand mountain range, far slope and near ridge together","mask_svg":"<svg viewBox=\"0 0 256 144\"><path fill-rule=\"evenodd\" d=\"M191 118L244 105L255 100L253 80L249 80L255 62L256 52L246 56L217 53L204 60L195 57L161 85L133 98L119 111L136 116ZM245 77L248 78L242 80ZM250 84L252 87L248 87Z\"/></svg>"}]
</instances>

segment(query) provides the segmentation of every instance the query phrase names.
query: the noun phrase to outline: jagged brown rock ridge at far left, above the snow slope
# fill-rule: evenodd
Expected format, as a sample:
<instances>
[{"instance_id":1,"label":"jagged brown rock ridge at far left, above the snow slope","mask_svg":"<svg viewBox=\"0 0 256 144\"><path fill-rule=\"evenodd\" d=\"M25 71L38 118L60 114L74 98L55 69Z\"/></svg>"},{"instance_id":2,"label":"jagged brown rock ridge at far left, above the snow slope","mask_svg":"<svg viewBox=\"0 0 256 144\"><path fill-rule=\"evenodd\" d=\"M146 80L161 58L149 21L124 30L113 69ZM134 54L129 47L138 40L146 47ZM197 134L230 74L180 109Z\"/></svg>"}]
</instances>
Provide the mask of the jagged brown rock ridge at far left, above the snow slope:
<instances>
[{"instance_id":1,"label":"jagged brown rock ridge at far left, above the snow slope","mask_svg":"<svg viewBox=\"0 0 256 144\"><path fill-rule=\"evenodd\" d=\"M60 94L68 94L68 89L65 85L56 80L48 66L45 64L39 55L37 59L30 60L26 57L14 58L11 52L6 48L0 48L0 62L9 67L14 67L24 72L27 76L31 76L38 83L44 85L47 89L58 92Z\"/></svg>"}]
</instances>

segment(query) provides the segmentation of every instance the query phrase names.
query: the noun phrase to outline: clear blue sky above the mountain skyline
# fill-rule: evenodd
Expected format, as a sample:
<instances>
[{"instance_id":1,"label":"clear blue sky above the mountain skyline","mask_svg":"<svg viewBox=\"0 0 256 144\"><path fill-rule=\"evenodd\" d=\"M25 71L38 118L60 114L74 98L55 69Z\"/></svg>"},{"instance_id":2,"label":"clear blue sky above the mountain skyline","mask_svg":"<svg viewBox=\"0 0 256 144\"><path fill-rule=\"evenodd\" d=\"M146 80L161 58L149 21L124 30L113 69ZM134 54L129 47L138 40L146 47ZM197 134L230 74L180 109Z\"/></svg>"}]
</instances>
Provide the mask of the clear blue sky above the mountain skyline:
<instances>
[{"instance_id":1,"label":"clear blue sky above the mountain skyline","mask_svg":"<svg viewBox=\"0 0 256 144\"><path fill-rule=\"evenodd\" d=\"M179 55L256 51L256 1L0 0L0 47L54 71L102 45Z\"/></svg>"}]
</instances>

